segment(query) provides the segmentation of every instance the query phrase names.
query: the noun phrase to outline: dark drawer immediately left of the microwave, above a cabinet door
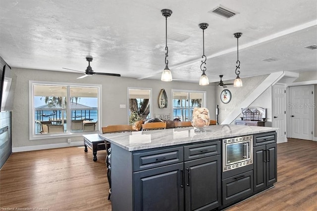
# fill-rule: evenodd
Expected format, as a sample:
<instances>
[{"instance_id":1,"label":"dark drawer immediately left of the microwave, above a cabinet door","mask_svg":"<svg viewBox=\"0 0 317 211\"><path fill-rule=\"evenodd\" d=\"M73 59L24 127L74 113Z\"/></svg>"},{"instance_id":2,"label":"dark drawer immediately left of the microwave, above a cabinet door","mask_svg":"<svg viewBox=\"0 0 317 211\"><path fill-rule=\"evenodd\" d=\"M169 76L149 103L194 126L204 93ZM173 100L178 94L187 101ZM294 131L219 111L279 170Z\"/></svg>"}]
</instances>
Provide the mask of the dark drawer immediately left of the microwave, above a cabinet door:
<instances>
[{"instance_id":1,"label":"dark drawer immediately left of the microwave, above a cabinet door","mask_svg":"<svg viewBox=\"0 0 317 211\"><path fill-rule=\"evenodd\" d=\"M205 158L220 154L220 141L194 144L184 147L184 160Z\"/></svg>"}]
</instances>

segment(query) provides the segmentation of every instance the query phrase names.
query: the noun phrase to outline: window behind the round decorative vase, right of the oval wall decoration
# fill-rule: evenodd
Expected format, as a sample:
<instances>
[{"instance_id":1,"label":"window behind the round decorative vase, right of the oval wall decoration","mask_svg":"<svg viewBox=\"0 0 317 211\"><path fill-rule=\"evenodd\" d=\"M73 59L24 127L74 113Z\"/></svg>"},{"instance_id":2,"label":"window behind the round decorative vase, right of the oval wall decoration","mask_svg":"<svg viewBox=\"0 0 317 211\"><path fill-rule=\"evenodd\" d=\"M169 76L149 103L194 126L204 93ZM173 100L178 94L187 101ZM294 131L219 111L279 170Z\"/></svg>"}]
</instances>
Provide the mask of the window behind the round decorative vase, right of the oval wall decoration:
<instances>
[{"instance_id":1,"label":"window behind the round decorative vase, right of the oval wall decoration","mask_svg":"<svg viewBox=\"0 0 317 211\"><path fill-rule=\"evenodd\" d=\"M172 90L173 119L191 121L194 107L206 107L206 92Z\"/></svg>"}]
</instances>

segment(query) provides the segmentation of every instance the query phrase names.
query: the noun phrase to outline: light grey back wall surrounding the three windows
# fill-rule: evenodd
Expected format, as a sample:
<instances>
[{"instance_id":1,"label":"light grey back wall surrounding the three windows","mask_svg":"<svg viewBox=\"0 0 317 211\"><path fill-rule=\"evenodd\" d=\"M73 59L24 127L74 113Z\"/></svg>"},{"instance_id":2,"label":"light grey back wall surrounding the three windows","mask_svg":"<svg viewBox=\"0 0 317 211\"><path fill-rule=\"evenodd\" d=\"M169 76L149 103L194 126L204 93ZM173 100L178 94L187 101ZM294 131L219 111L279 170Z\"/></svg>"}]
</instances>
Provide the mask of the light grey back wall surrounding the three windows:
<instances>
[{"instance_id":1,"label":"light grey back wall surrounding the three windows","mask_svg":"<svg viewBox=\"0 0 317 211\"><path fill-rule=\"evenodd\" d=\"M94 75L84 79L76 79L80 74L59 71L33 70L12 68L17 76L16 91L14 96L14 110L12 112L12 147L21 148L39 145L51 145L66 143L67 138L53 138L45 140L29 140L29 81L48 81L63 83L87 83L102 85L102 126L109 124L127 124L127 87L152 88L152 111L154 114L171 113L171 89L207 91L207 108L215 110L214 87L199 86L194 83L162 82L159 80L137 80L124 77L110 77ZM159 108L157 99L159 91L165 89L168 99L167 108ZM119 108L125 104L126 108ZM214 112L211 119L215 119ZM72 142L83 142L83 137L71 137ZM64 145L59 145L64 146ZM28 148L29 147L29 148Z\"/></svg>"}]
</instances>

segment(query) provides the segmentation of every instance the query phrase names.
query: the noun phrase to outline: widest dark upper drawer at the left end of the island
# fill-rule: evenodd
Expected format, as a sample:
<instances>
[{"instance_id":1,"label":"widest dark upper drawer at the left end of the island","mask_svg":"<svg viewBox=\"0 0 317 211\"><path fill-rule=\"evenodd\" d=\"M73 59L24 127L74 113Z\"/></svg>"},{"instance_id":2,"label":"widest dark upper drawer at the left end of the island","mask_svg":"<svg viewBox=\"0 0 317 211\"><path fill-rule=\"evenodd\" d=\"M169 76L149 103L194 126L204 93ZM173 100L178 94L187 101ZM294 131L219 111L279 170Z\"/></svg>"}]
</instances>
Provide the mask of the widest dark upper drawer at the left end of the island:
<instances>
[{"instance_id":1,"label":"widest dark upper drawer at the left end of the island","mask_svg":"<svg viewBox=\"0 0 317 211\"><path fill-rule=\"evenodd\" d=\"M155 168L183 161L183 147L133 154L133 171Z\"/></svg>"}]
</instances>

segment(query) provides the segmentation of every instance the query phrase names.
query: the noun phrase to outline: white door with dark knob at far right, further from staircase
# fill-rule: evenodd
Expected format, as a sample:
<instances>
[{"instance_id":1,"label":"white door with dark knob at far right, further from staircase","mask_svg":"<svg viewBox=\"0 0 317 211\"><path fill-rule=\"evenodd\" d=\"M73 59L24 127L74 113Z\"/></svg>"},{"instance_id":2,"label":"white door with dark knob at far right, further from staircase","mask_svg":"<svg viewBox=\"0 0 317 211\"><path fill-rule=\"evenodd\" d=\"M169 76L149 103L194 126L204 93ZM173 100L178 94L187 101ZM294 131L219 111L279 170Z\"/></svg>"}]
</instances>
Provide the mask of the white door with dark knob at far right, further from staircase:
<instances>
[{"instance_id":1,"label":"white door with dark knob at far right, further from staircase","mask_svg":"<svg viewBox=\"0 0 317 211\"><path fill-rule=\"evenodd\" d=\"M314 86L290 87L291 138L313 139Z\"/></svg>"}]
</instances>

